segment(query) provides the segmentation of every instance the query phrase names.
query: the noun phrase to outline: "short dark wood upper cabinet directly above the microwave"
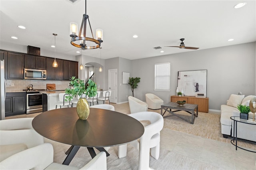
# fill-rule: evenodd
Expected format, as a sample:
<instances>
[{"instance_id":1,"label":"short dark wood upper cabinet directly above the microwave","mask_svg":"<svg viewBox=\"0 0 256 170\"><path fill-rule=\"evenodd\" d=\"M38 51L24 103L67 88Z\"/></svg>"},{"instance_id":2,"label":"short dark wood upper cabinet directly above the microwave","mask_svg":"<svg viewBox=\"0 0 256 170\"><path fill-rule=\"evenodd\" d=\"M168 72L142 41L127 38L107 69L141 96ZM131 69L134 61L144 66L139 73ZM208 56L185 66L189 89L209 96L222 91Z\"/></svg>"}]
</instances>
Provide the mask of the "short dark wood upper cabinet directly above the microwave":
<instances>
[{"instance_id":1,"label":"short dark wood upper cabinet directly above the microwave","mask_svg":"<svg viewBox=\"0 0 256 170\"><path fill-rule=\"evenodd\" d=\"M25 68L27 69L46 69L46 57L24 55Z\"/></svg>"}]
</instances>

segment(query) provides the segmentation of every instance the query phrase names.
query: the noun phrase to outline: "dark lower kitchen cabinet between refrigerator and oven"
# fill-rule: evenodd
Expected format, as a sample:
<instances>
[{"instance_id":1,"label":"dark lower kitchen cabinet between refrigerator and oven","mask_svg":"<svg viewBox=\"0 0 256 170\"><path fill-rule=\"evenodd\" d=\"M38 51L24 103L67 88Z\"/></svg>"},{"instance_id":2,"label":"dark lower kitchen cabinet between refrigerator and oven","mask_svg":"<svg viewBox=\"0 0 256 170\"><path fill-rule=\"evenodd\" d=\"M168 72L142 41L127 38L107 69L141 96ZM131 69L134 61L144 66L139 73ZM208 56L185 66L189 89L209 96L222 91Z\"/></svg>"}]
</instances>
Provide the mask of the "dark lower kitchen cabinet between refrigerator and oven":
<instances>
[{"instance_id":1,"label":"dark lower kitchen cabinet between refrigerator and oven","mask_svg":"<svg viewBox=\"0 0 256 170\"><path fill-rule=\"evenodd\" d=\"M20 115L26 113L26 93L6 93L5 116Z\"/></svg>"}]
</instances>

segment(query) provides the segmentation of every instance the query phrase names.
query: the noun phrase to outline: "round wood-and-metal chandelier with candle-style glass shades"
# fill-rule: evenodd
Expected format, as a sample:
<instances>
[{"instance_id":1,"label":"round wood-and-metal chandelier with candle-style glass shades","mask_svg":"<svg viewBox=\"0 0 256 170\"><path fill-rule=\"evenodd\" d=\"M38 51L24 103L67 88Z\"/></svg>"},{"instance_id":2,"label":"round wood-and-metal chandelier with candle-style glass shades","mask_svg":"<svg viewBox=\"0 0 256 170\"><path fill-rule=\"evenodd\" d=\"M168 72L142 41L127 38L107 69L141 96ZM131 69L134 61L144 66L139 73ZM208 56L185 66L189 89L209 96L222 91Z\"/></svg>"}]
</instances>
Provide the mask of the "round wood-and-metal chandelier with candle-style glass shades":
<instances>
[{"instance_id":1,"label":"round wood-and-metal chandelier with candle-style glass shades","mask_svg":"<svg viewBox=\"0 0 256 170\"><path fill-rule=\"evenodd\" d=\"M102 29L96 30L96 39L94 39L93 33L92 33L92 38L86 37L87 19L88 19L88 23L89 23L90 30L92 33L92 27L90 24L89 16L86 14L86 0L85 0L85 14L83 15L82 24L80 27L79 34L78 34L78 24L76 24L75 22L70 22L70 37L71 37L70 43L72 45L74 45L75 47L78 47L81 49L99 48L100 43L103 42L103 30ZM93 43L95 43L95 45L88 46L88 45L86 45L86 41L93 42Z\"/></svg>"}]
</instances>

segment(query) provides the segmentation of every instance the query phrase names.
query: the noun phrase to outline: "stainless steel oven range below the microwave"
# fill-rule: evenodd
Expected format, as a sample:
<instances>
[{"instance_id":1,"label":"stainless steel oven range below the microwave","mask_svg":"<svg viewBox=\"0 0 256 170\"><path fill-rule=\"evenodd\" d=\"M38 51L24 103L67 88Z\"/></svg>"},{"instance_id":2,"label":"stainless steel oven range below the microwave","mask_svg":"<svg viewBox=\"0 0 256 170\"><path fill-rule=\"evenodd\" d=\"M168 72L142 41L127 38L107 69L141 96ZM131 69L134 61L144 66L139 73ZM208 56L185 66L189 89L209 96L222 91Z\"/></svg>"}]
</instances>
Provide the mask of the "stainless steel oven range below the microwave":
<instances>
[{"instance_id":1,"label":"stainless steel oven range below the microwave","mask_svg":"<svg viewBox=\"0 0 256 170\"><path fill-rule=\"evenodd\" d=\"M39 91L27 91L26 114L43 111L43 94Z\"/></svg>"}]
</instances>

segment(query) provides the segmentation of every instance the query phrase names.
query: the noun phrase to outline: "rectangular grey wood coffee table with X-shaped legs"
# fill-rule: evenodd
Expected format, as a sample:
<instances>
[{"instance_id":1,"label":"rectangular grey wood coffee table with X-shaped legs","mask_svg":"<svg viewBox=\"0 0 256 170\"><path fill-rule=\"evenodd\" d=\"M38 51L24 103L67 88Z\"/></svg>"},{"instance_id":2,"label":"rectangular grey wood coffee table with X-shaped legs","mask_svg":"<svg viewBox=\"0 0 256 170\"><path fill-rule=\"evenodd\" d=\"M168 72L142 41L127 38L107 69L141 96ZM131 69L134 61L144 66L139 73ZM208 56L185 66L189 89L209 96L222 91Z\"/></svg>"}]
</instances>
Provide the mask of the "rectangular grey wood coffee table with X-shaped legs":
<instances>
[{"instance_id":1,"label":"rectangular grey wood coffee table with X-shaped legs","mask_svg":"<svg viewBox=\"0 0 256 170\"><path fill-rule=\"evenodd\" d=\"M175 111L172 111L172 109L175 109ZM196 113L194 112L195 109L196 109ZM164 110L164 113L163 113L163 110ZM168 115L168 116L164 117L164 114L166 113L166 111L169 113L172 113L172 115ZM186 111L187 113L191 114L191 120L187 120L175 113L178 111ZM183 119L184 121L194 124L195 117L198 117L198 105L186 103L186 104L180 106L179 104L174 103L174 102L166 103L166 104L161 105L161 115L163 116L163 118L171 117L171 116L175 115L175 116Z\"/></svg>"}]
</instances>

